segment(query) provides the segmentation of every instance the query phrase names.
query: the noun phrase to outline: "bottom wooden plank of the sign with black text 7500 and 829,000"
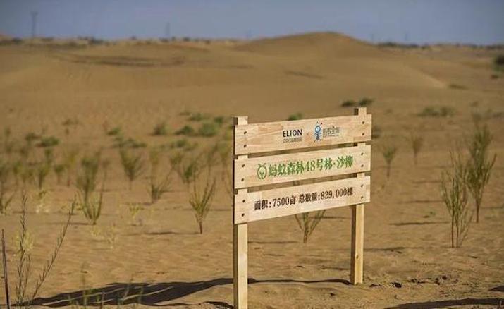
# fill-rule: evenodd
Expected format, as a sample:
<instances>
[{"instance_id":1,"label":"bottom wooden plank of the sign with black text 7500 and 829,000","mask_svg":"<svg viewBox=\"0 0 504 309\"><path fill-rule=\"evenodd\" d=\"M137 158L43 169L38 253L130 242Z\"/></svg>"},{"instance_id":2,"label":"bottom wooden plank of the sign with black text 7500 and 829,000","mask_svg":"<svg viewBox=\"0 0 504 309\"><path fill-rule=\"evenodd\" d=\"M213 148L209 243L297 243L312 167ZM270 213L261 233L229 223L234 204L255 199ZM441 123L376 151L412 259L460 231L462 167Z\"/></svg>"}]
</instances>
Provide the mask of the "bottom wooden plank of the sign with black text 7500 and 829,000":
<instances>
[{"instance_id":1,"label":"bottom wooden plank of the sign with black text 7500 and 829,000","mask_svg":"<svg viewBox=\"0 0 504 309\"><path fill-rule=\"evenodd\" d=\"M370 178L346 178L235 195L234 223L369 202Z\"/></svg>"}]
</instances>

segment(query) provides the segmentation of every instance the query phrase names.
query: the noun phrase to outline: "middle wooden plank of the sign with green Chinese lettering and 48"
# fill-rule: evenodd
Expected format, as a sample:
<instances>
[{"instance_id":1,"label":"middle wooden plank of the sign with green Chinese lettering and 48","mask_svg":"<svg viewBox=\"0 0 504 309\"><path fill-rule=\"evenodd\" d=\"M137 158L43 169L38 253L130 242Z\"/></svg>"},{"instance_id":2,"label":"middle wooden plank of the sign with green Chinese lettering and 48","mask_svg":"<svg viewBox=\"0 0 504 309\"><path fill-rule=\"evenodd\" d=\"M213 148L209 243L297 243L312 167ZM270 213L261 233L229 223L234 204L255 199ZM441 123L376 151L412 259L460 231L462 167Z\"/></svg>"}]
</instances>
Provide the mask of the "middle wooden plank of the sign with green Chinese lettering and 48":
<instances>
[{"instance_id":1,"label":"middle wooden plank of the sign with green Chinese lettering and 48","mask_svg":"<svg viewBox=\"0 0 504 309\"><path fill-rule=\"evenodd\" d=\"M371 169L371 145L235 160L235 188L353 174Z\"/></svg>"}]
</instances>

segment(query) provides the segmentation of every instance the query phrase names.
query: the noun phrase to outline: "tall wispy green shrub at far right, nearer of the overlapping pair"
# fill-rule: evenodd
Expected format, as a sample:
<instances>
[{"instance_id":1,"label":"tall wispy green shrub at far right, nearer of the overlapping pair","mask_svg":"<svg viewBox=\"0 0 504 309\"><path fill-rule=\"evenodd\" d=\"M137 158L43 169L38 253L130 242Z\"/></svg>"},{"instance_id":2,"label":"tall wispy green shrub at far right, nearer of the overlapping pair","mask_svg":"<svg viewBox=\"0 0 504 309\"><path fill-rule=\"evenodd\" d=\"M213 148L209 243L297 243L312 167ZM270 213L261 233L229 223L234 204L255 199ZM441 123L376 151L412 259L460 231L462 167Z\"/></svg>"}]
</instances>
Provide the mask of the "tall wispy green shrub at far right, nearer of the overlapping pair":
<instances>
[{"instance_id":1,"label":"tall wispy green shrub at far right, nearer of the overlapping pair","mask_svg":"<svg viewBox=\"0 0 504 309\"><path fill-rule=\"evenodd\" d=\"M461 152L450 153L451 171L441 174L441 197L451 218L452 248L462 246L467 233L472 214L467 208L467 166Z\"/></svg>"}]
</instances>

